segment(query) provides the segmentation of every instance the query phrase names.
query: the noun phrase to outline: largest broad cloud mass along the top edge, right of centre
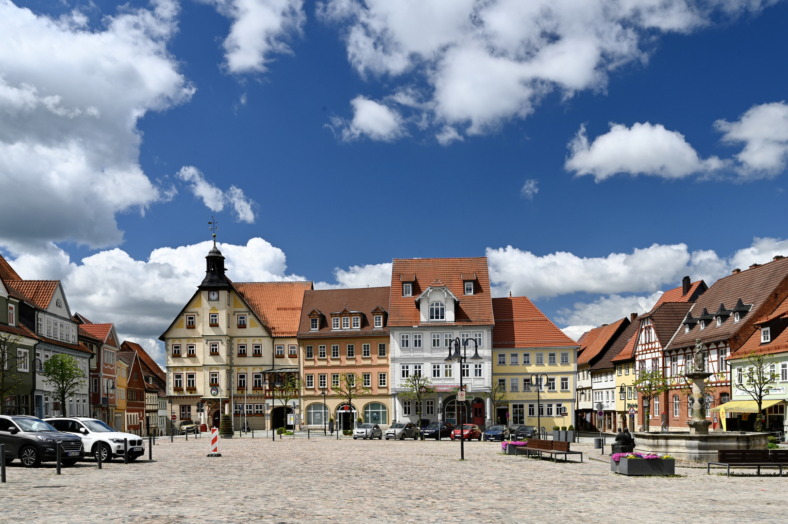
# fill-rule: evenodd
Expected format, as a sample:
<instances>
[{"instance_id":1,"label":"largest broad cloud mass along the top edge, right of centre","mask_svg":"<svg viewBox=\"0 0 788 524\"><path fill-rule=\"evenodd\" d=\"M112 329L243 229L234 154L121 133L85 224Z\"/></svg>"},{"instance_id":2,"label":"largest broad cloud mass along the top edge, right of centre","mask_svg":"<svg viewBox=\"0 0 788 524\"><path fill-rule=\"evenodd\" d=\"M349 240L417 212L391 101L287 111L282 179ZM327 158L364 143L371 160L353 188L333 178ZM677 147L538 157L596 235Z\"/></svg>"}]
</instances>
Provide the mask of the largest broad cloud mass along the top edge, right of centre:
<instances>
[{"instance_id":1,"label":"largest broad cloud mass along the top edge, right of centre","mask_svg":"<svg viewBox=\"0 0 788 524\"><path fill-rule=\"evenodd\" d=\"M526 117L550 91L604 89L612 70L646 61L655 34L774 2L326 0L318 17L340 28L359 75L420 91L428 103L418 112L473 135Z\"/></svg>"}]
</instances>

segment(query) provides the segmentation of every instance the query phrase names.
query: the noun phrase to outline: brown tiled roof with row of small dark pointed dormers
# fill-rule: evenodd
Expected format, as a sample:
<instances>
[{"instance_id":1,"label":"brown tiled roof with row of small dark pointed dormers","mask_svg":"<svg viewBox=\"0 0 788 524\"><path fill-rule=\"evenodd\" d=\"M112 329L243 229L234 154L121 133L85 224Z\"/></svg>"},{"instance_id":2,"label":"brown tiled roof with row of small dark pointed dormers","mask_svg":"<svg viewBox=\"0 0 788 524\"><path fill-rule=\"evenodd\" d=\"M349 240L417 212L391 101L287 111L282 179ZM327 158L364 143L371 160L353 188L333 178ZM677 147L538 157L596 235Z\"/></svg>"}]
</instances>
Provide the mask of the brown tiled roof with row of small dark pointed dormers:
<instances>
[{"instance_id":1,"label":"brown tiled roof with row of small dark pointed dormers","mask_svg":"<svg viewBox=\"0 0 788 524\"><path fill-rule=\"evenodd\" d=\"M690 327L689 333L684 333L684 328L681 326L681 329L675 331L673 339L665 349L694 346L697 338L700 338L704 344L709 344L728 340L731 337L734 337L731 347L734 347L734 350L738 349L739 344L745 343L745 340L739 340L739 337L749 338L752 334L753 321L771 314L778 306L778 300L784 298L785 291L782 291L783 295L779 297L775 297L775 292L778 292L778 288L785 288L786 283L788 283L788 258L779 258L774 262L719 279L693 304L691 310L693 317L701 316L704 308L710 311L718 310L720 303L731 309L738 299L742 299L745 304L752 304L749 313L745 314L739 322L734 322L733 316L723 319L722 325L719 326L716 322L709 322L703 331L696 324ZM762 307L764 310L761 310ZM742 329L745 331L739 333Z\"/></svg>"}]
</instances>

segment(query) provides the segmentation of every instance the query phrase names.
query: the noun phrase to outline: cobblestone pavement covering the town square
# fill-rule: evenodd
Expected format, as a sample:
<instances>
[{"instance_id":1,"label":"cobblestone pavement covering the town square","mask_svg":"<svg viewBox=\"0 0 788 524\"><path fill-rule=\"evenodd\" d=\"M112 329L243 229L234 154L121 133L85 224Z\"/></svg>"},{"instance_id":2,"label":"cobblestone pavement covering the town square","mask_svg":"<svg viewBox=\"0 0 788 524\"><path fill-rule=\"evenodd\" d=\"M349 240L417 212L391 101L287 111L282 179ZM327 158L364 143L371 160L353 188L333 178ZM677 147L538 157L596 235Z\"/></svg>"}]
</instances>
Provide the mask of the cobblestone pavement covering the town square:
<instances>
[{"instance_id":1,"label":"cobblestone pavement covering the town square","mask_svg":"<svg viewBox=\"0 0 788 524\"><path fill-rule=\"evenodd\" d=\"M154 462L27 470L0 484L0 522L783 522L788 478L612 474L451 441L160 440ZM147 450L146 450L147 451ZM754 473L754 471L753 471Z\"/></svg>"}]
</instances>

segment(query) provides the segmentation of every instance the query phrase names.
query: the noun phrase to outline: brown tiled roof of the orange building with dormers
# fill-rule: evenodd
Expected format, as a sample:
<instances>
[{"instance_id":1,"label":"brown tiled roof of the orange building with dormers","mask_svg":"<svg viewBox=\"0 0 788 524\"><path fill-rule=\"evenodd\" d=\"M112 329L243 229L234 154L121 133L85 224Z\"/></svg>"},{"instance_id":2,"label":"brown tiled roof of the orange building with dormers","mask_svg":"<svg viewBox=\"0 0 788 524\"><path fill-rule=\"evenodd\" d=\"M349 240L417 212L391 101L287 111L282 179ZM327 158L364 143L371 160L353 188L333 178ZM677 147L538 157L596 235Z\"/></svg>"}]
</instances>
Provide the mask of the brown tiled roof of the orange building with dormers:
<instances>
[{"instance_id":1,"label":"brown tiled roof of the orange building with dormers","mask_svg":"<svg viewBox=\"0 0 788 524\"><path fill-rule=\"evenodd\" d=\"M314 289L304 292L303 314L298 329L299 338L388 334L388 328L385 327L385 309L380 304L388 300L389 290L390 288L386 286L385 288ZM340 308L362 313L361 328L331 329L329 322L322 322L317 331L310 329L309 315L313 314L313 311L336 311ZM370 318L374 318L374 313L381 312L384 313L384 327L374 329L370 324Z\"/></svg>"}]
</instances>

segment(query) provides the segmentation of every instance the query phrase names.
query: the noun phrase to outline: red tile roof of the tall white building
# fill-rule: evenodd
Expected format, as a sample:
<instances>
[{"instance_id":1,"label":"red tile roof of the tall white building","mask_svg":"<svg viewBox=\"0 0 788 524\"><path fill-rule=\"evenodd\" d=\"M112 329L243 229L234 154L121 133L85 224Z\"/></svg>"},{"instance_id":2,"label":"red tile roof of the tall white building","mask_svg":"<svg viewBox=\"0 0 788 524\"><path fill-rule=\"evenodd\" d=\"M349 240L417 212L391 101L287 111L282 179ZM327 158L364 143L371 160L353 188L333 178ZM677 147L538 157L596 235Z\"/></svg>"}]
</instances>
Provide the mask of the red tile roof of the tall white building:
<instances>
[{"instance_id":1,"label":"red tile roof of the tall white building","mask_svg":"<svg viewBox=\"0 0 788 524\"><path fill-rule=\"evenodd\" d=\"M463 295L463 273L476 273L474 294ZM401 275L414 278L413 296L402 296ZM394 258L388 325L418 325L421 321L415 299L429 284L439 280L459 299L455 324L494 325L487 257Z\"/></svg>"}]
</instances>

